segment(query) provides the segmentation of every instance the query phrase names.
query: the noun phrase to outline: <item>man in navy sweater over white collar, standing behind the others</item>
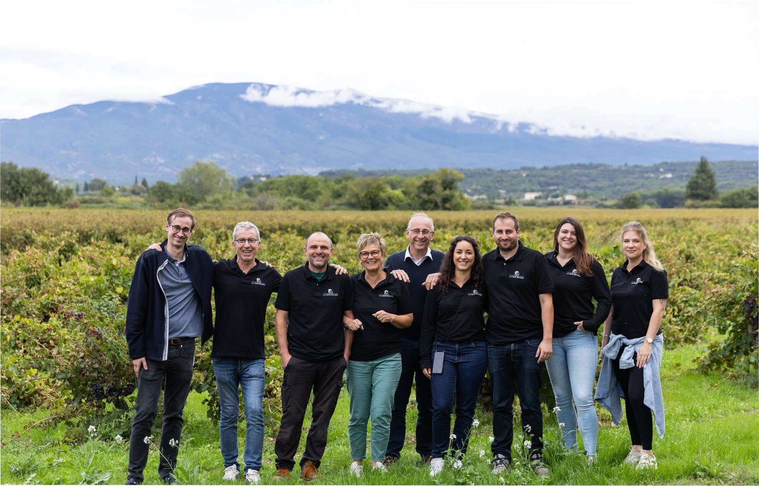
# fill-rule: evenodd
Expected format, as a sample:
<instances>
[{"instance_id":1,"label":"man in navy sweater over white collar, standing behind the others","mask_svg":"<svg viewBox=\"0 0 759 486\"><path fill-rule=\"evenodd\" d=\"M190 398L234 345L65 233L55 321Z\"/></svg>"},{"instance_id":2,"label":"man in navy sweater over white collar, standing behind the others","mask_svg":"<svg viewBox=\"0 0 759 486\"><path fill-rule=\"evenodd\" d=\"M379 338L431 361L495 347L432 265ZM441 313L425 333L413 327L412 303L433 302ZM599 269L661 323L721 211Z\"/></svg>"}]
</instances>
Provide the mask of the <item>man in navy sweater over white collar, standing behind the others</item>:
<instances>
[{"instance_id":1,"label":"man in navy sweater over white collar, standing behind the others","mask_svg":"<svg viewBox=\"0 0 759 486\"><path fill-rule=\"evenodd\" d=\"M386 464L395 462L401 456L406 438L406 406L411 396L411 387L416 377L417 394L417 453L423 463L432 457L432 392L430 379L424 376L420 366L419 335L424 317L424 300L427 289L424 281L430 273L437 273L442 261L442 251L430 250L430 241L435 236L433 220L425 213L414 213L406 227L408 247L387 257L385 267L388 272L403 270L408 275L411 292L411 305L414 308L414 323L402 330L401 340L401 379L395 390L395 402L392 407L390 422L390 439L387 444Z\"/></svg>"}]
</instances>

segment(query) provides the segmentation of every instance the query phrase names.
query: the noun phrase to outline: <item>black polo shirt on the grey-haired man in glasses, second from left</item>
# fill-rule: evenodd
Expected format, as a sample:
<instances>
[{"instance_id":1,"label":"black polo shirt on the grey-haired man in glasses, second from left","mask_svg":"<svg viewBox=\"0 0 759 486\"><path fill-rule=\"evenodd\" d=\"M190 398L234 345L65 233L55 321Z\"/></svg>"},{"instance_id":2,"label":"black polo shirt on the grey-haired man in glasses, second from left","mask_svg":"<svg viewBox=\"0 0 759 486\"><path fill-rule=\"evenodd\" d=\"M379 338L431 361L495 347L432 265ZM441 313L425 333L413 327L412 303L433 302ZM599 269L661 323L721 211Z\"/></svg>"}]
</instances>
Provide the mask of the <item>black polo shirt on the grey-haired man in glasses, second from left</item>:
<instances>
[{"instance_id":1,"label":"black polo shirt on the grey-haired man in glasses, second from left","mask_svg":"<svg viewBox=\"0 0 759 486\"><path fill-rule=\"evenodd\" d=\"M213 358L264 358L263 324L272 292L279 291L282 276L256 260L244 273L237 263L219 260L213 264L216 327L213 331Z\"/></svg>"}]
</instances>

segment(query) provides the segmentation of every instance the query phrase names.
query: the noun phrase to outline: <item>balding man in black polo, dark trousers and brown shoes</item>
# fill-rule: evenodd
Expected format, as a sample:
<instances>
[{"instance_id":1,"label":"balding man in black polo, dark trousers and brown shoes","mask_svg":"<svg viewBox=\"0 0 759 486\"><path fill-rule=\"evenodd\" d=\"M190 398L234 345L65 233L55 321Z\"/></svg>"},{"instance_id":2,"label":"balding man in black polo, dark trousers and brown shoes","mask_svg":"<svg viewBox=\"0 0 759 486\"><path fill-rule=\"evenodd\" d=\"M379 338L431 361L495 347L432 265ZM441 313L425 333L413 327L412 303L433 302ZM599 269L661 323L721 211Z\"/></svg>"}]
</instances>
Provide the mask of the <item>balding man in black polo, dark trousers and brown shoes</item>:
<instances>
[{"instance_id":1,"label":"balding man in black polo, dark trousers and brown shoes","mask_svg":"<svg viewBox=\"0 0 759 486\"><path fill-rule=\"evenodd\" d=\"M342 388L353 334L343 331L343 315L353 318L353 284L329 266L332 241L323 232L310 235L307 263L285 273L275 307L277 342L285 377L282 422L274 445L276 479L288 478L301 440L306 406L313 389L311 428L301 459L301 478L317 477L327 428Z\"/></svg>"}]
</instances>

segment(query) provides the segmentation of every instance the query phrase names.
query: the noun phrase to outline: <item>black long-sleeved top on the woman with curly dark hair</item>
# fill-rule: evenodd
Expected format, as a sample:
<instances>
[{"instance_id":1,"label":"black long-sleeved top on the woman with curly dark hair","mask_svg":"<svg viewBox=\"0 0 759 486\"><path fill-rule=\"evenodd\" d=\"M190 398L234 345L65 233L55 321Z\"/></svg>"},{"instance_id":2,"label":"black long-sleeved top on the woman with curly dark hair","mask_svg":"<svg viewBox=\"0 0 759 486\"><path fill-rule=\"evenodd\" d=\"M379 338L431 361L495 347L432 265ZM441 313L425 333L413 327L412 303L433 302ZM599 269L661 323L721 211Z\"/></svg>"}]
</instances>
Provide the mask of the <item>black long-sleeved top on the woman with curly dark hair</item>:
<instances>
[{"instance_id":1,"label":"black long-sleeved top on the woman with curly dark hair","mask_svg":"<svg viewBox=\"0 0 759 486\"><path fill-rule=\"evenodd\" d=\"M446 292L439 285L427 292L419 338L421 368L432 368L433 342L484 341L486 304L483 286L475 289L471 279L462 287L451 282Z\"/></svg>"}]
</instances>

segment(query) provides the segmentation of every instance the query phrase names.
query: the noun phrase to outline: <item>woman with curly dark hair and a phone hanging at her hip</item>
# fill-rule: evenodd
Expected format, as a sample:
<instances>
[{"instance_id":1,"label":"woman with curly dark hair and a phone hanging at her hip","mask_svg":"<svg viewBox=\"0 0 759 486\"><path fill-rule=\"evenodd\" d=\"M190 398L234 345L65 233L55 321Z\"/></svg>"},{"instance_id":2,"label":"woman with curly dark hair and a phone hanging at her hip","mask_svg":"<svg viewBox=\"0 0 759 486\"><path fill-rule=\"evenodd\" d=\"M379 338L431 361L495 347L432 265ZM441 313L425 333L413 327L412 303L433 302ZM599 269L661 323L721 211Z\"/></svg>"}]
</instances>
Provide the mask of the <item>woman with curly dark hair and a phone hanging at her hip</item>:
<instances>
[{"instance_id":1,"label":"woman with curly dark hair and a phone hanging at her hip","mask_svg":"<svg viewBox=\"0 0 759 486\"><path fill-rule=\"evenodd\" d=\"M471 236L453 238L440 264L438 285L427 292L420 336L420 364L432 380L432 443L430 476L442 471L446 450L454 451L453 467L466 453L485 371L485 292L482 257ZM456 419L451 431L451 412Z\"/></svg>"}]
</instances>

